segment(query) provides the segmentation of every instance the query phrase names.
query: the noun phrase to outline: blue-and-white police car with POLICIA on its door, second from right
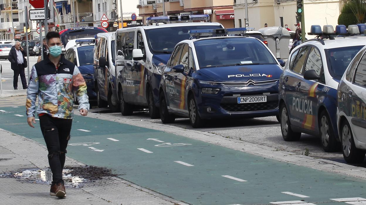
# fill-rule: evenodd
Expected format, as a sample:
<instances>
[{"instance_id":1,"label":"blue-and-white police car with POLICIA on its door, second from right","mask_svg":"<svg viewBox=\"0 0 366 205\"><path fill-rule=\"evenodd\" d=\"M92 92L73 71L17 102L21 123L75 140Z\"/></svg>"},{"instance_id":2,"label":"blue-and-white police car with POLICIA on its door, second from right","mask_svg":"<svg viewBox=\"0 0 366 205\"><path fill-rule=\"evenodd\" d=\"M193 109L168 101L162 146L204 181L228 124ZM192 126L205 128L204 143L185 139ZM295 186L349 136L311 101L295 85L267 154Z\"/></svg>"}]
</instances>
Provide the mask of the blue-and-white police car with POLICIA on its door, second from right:
<instances>
[{"instance_id":1,"label":"blue-and-white police car with POLICIA on its door, second from right","mask_svg":"<svg viewBox=\"0 0 366 205\"><path fill-rule=\"evenodd\" d=\"M362 30L363 32L363 30ZM285 141L299 140L301 133L320 135L326 152L339 147L336 123L337 87L348 64L366 37L355 25L311 26L317 35L297 46L280 77L281 132ZM347 37L335 37L343 34Z\"/></svg>"}]
</instances>

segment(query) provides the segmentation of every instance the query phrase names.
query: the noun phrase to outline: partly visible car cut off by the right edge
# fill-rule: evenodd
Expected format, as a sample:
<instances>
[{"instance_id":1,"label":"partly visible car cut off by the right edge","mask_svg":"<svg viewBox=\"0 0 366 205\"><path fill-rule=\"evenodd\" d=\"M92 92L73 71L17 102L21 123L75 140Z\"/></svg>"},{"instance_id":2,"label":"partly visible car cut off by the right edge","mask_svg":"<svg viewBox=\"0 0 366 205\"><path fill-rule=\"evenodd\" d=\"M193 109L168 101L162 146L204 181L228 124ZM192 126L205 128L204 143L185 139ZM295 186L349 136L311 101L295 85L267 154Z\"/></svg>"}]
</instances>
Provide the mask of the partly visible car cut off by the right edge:
<instances>
[{"instance_id":1,"label":"partly visible car cut off by the right edge","mask_svg":"<svg viewBox=\"0 0 366 205\"><path fill-rule=\"evenodd\" d=\"M344 160L363 162L366 153L366 46L356 54L340 80L337 125Z\"/></svg>"}]
</instances>

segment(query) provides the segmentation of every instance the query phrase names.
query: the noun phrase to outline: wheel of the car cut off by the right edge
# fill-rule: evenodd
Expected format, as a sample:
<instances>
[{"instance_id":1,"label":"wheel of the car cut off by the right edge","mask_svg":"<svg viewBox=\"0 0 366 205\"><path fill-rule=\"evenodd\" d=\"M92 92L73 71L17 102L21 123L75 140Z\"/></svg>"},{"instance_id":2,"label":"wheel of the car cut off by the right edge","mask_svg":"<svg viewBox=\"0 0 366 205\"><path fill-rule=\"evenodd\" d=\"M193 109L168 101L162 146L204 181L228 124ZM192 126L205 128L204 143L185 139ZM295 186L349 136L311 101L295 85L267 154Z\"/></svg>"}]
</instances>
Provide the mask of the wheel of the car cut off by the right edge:
<instances>
[{"instance_id":1,"label":"wheel of the car cut off by the right edge","mask_svg":"<svg viewBox=\"0 0 366 205\"><path fill-rule=\"evenodd\" d=\"M343 157L347 163L361 163L365 160L366 151L355 146L352 130L347 121L343 121L341 125L341 139Z\"/></svg>"}]
</instances>

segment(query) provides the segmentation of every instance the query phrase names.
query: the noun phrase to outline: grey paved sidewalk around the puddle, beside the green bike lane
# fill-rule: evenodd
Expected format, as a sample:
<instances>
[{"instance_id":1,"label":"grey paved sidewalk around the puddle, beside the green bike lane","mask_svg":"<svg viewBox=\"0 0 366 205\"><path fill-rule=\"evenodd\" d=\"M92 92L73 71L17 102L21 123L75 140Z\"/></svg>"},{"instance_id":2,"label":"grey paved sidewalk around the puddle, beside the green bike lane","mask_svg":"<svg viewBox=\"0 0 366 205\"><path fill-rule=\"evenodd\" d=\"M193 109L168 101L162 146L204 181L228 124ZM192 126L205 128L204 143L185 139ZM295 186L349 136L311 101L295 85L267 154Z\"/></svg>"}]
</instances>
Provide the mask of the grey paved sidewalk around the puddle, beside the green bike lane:
<instances>
[{"instance_id":1,"label":"grey paved sidewalk around the puddle, beside the green bike lane","mask_svg":"<svg viewBox=\"0 0 366 205\"><path fill-rule=\"evenodd\" d=\"M46 147L34 140L0 129L0 198L1 204L115 204L155 205L185 204L174 201L119 177L103 177L83 184L81 188L66 187L67 197L59 199L49 195L49 184L30 179L1 177L4 173L48 167ZM65 166L84 166L66 158Z\"/></svg>"}]
</instances>

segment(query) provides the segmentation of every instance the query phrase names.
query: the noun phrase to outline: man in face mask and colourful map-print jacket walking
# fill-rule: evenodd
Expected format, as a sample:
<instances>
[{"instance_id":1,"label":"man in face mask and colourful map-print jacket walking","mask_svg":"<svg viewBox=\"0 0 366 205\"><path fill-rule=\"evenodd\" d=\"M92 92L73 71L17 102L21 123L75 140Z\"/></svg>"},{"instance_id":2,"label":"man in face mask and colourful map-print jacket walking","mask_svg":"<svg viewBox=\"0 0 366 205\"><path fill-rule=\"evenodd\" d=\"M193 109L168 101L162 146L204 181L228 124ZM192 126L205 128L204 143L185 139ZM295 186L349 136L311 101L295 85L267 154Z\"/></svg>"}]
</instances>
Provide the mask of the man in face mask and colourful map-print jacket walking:
<instances>
[{"instance_id":1,"label":"man in face mask and colourful map-print jacket walking","mask_svg":"<svg viewBox=\"0 0 366 205\"><path fill-rule=\"evenodd\" d=\"M88 114L89 102L86 84L78 67L61 55L60 34L48 32L46 43L49 48L48 58L32 67L26 114L29 126L34 128L38 95L37 114L52 171L50 195L63 198L66 197L66 190L62 170L72 124L72 92L75 92L78 98L78 110L82 116Z\"/></svg>"}]
</instances>

